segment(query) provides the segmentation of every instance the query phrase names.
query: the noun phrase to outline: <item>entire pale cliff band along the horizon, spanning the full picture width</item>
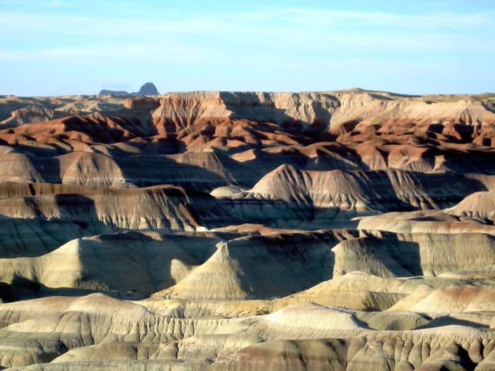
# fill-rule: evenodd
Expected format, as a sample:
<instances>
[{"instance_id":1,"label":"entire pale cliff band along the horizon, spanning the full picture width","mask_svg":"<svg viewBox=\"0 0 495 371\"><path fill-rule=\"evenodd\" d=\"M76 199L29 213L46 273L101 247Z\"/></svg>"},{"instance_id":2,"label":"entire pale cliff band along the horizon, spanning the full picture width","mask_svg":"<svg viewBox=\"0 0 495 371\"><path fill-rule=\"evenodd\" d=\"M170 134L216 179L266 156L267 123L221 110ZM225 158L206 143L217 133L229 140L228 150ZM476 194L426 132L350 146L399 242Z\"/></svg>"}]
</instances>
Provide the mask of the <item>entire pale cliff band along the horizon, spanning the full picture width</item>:
<instances>
[{"instance_id":1,"label":"entire pale cliff band along the horizon, spanning the full picture width","mask_svg":"<svg viewBox=\"0 0 495 371\"><path fill-rule=\"evenodd\" d=\"M491 95L408 96L361 89L320 93L194 91L156 97L93 95L53 100L14 97L6 103L15 110L1 122L4 127L47 121L64 114L102 112L127 116L129 112L123 106L147 111L159 132L175 132L213 118L273 122L309 136L328 131L366 131L367 126L378 126L382 132L404 132L410 125L495 123Z\"/></svg>"}]
</instances>

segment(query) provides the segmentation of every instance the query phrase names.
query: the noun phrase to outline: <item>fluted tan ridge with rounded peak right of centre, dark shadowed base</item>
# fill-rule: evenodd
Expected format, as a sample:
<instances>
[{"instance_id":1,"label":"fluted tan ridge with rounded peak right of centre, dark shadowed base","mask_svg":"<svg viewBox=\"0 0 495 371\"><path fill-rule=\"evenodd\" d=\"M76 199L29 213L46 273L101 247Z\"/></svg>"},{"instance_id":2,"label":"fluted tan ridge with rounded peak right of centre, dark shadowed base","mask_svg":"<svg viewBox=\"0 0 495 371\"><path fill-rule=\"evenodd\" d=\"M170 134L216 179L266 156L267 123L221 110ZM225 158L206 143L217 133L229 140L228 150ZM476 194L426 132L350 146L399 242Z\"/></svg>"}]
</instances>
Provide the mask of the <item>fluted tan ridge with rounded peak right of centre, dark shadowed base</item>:
<instances>
[{"instance_id":1,"label":"fluted tan ridge with rounded peak right of centre, dark shadowed base","mask_svg":"<svg viewBox=\"0 0 495 371\"><path fill-rule=\"evenodd\" d=\"M424 177L395 169L314 171L281 165L249 191L232 195L230 203L223 203L232 206L240 218L258 223L294 227L295 221L305 221L323 227L329 220L349 220L387 210L450 206L460 195L472 193L474 187L484 186L470 177L448 173ZM361 228L379 229L372 223Z\"/></svg>"}]
</instances>

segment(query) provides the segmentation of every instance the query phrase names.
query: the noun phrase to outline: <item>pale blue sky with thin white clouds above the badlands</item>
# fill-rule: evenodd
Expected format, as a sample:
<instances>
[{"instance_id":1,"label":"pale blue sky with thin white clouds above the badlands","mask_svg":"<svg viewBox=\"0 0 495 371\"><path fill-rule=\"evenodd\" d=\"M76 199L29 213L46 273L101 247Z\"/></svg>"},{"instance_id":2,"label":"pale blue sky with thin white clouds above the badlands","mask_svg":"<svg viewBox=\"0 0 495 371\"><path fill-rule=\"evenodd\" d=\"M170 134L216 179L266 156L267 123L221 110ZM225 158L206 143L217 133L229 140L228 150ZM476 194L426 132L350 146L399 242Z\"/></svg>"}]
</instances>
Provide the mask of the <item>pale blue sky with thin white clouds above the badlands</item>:
<instances>
[{"instance_id":1,"label":"pale blue sky with thin white clouds above the badlands","mask_svg":"<svg viewBox=\"0 0 495 371\"><path fill-rule=\"evenodd\" d=\"M495 0L0 0L0 94L495 91Z\"/></svg>"}]
</instances>

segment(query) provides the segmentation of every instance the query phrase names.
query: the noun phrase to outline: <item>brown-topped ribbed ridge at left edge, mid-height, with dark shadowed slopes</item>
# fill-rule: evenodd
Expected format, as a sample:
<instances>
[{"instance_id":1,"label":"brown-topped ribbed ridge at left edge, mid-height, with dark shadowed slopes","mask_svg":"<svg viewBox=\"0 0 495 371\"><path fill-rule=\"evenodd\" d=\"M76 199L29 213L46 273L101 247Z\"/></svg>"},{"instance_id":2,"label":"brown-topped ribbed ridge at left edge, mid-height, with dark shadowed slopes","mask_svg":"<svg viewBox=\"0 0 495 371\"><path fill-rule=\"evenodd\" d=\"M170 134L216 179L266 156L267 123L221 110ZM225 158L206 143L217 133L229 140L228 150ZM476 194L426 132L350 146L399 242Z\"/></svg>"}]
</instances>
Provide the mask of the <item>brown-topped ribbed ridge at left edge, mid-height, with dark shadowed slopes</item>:
<instances>
[{"instance_id":1,"label":"brown-topped ribbed ridge at left edge, mid-height, with dark shadowed slopes","mask_svg":"<svg viewBox=\"0 0 495 371\"><path fill-rule=\"evenodd\" d=\"M61 193L0 200L1 257L38 256L83 236L207 230L234 220L209 194L170 185L94 189L63 184L55 192L57 188Z\"/></svg>"}]
</instances>

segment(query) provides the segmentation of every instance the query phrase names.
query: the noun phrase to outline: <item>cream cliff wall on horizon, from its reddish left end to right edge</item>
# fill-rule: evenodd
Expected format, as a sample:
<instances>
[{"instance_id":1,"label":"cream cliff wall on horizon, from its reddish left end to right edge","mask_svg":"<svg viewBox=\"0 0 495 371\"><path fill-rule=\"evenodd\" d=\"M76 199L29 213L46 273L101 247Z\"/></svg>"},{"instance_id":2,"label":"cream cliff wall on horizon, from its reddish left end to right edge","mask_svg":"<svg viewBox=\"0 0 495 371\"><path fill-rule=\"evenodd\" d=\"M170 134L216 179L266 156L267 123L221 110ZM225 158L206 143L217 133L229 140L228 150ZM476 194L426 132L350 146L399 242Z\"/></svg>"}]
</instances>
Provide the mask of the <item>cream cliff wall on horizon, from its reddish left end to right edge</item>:
<instances>
[{"instance_id":1,"label":"cream cliff wall on horizon, from its reddish left end to right edge","mask_svg":"<svg viewBox=\"0 0 495 371\"><path fill-rule=\"evenodd\" d=\"M361 90L346 93L192 92L168 94L153 118L185 127L211 117L286 124L315 135L356 125L494 124L495 113L470 97L428 100ZM343 126L343 127L342 127ZM359 128L358 128L359 129Z\"/></svg>"}]
</instances>

